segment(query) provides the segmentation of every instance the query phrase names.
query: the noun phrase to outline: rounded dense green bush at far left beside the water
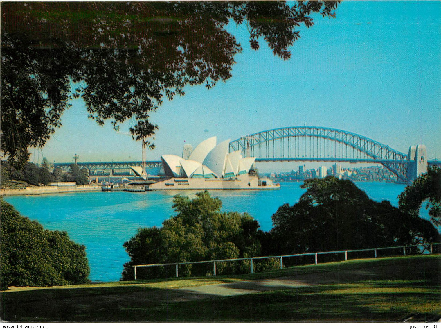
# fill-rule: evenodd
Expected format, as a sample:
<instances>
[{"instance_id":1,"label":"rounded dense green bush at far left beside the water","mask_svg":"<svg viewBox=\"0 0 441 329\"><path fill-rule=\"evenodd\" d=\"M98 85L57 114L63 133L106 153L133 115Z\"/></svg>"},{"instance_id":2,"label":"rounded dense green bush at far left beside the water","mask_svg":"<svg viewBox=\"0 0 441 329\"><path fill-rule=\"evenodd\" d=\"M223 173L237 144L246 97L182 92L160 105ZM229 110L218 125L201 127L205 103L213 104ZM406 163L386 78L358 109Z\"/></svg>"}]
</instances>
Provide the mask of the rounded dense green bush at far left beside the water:
<instances>
[{"instance_id":1,"label":"rounded dense green bush at far left beside the water","mask_svg":"<svg viewBox=\"0 0 441 329\"><path fill-rule=\"evenodd\" d=\"M8 286L54 286L88 282L85 247L66 232L45 230L1 199L1 278Z\"/></svg>"}]
</instances>

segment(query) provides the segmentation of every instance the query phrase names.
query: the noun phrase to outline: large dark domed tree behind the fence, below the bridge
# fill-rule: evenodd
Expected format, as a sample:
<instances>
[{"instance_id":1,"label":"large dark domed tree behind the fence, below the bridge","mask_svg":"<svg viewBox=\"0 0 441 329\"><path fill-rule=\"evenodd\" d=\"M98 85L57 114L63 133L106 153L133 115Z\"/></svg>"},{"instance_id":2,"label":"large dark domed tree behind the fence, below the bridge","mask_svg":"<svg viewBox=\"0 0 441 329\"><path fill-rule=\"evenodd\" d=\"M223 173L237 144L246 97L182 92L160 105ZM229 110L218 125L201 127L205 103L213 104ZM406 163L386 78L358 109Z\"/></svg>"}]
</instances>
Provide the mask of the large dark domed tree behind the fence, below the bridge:
<instances>
[{"instance_id":1,"label":"large dark domed tree behind the fence, below the bridge","mask_svg":"<svg viewBox=\"0 0 441 329\"><path fill-rule=\"evenodd\" d=\"M329 176L306 180L297 204L272 216L269 253L363 249L439 241L434 226L403 214L388 201L370 200L348 180Z\"/></svg>"}]
</instances>

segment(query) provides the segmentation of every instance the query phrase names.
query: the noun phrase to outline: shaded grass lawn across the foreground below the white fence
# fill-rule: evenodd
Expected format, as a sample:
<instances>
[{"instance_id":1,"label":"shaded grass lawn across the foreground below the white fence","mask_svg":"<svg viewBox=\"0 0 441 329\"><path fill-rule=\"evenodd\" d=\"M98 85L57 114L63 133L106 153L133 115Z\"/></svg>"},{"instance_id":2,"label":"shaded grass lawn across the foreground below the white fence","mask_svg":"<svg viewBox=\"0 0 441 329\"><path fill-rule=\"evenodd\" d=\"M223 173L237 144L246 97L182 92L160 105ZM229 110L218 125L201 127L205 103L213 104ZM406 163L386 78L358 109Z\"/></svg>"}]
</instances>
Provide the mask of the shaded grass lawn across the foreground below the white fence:
<instances>
[{"instance_id":1,"label":"shaded grass lawn across the foreground below the white fence","mask_svg":"<svg viewBox=\"0 0 441 329\"><path fill-rule=\"evenodd\" d=\"M242 276L23 287L0 294L0 316L13 322L437 321L440 269L441 255L425 255ZM287 277L299 286L234 296L191 291Z\"/></svg>"}]
</instances>

